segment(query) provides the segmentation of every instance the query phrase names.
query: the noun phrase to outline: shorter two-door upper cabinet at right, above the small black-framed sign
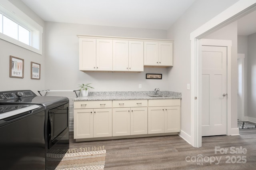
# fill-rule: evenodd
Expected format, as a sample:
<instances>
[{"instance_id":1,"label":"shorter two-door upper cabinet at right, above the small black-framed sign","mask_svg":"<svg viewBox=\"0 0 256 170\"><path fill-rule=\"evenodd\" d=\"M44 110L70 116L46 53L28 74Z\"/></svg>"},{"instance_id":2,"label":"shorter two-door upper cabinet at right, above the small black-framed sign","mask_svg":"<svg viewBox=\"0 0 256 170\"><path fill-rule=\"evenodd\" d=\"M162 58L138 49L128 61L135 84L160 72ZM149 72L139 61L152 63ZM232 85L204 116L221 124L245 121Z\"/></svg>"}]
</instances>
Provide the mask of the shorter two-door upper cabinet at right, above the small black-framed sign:
<instances>
[{"instance_id":1,"label":"shorter two-door upper cabinet at right, above the small black-framed sign","mask_svg":"<svg viewBox=\"0 0 256 170\"><path fill-rule=\"evenodd\" d=\"M145 66L173 66L173 42L144 42Z\"/></svg>"}]
</instances>

